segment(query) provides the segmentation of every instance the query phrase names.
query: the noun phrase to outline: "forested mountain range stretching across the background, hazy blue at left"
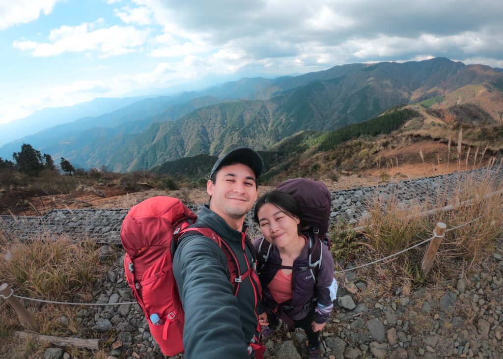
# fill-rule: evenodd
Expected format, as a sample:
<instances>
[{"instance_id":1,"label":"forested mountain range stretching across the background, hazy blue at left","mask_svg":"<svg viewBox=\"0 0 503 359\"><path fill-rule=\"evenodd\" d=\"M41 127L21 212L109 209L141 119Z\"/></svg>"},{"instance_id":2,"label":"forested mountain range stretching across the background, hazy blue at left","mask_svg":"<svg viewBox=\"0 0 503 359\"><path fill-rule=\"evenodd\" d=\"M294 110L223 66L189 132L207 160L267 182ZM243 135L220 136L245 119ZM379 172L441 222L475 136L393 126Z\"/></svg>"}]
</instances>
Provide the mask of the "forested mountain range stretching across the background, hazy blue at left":
<instances>
[{"instance_id":1,"label":"forested mountain range stretching across the background, hazy blue at left","mask_svg":"<svg viewBox=\"0 0 503 359\"><path fill-rule=\"evenodd\" d=\"M503 108L503 73L435 58L243 78L51 127L2 146L0 156L10 158L30 143L84 168L150 169L198 154L218 156L236 146L270 149L298 131L332 131L429 99L432 108L446 110L475 104L495 123Z\"/></svg>"}]
</instances>

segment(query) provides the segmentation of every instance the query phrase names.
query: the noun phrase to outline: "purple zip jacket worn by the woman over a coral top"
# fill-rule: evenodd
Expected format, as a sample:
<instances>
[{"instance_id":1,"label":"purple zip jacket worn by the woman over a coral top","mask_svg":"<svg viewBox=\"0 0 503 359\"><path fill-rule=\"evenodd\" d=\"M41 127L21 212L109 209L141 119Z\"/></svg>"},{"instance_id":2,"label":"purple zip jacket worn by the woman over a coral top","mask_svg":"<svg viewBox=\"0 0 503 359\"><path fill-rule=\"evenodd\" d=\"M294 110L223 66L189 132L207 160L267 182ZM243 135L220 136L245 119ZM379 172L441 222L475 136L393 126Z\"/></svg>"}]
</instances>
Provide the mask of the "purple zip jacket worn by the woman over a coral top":
<instances>
[{"instance_id":1,"label":"purple zip jacket worn by the woman over a coral top","mask_svg":"<svg viewBox=\"0 0 503 359\"><path fill-rule=\"evenodd\" d=\"M257 256L259 256L259 246L262 240L265 239L260 236L254 241ZM318 324L322 324L328 320L333 307L332 302L336 299L337 282L333 278L332 255L326 245L321 245L321 247L321 265L317 274L314 274L316 272L315 268L308 266L308 242L304 246L302 253L293 262L292 299L285 303L276 303L267 287L276 276L276 273L278 273L278 266L282 262L278 248L274 245L271 246L266 263L262 263L262 258L258 258L259 278L263 289L262 312L266 311L270 313L278 307L280 316L284 313L291 320L300 320L309 313L311 305L314 304L312 300L317 297L314 320Z\"/></svg>"}]
</instances>

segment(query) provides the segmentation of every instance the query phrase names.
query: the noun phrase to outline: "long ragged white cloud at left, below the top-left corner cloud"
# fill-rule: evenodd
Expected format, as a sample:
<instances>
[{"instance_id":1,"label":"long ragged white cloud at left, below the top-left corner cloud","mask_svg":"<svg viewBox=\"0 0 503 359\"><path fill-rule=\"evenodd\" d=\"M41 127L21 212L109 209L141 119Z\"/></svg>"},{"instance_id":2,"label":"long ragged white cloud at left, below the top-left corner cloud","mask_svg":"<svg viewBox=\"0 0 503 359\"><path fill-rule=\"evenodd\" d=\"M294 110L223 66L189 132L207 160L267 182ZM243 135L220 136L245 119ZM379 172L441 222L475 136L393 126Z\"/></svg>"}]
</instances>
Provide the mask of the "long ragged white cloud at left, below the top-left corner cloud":
<instances>
[{"instance_id":1,"label":"long ragged white cloud at left, below the top-left corner cloud","mask_svg":"<svg viewBox=\"0 0 503 359\"><path fill-rule=\"evenodd\" d=\"M22 51L32 51L32 55L38 57L85 51L97 51L101 57L109 57L138 51L138 46L145 43L150 33L148 29L138 30L132 26L101 26L102 19L78 26L61 26L51 30L50 42L14 41L13 46Z\"/></svg>"}]
</instances>

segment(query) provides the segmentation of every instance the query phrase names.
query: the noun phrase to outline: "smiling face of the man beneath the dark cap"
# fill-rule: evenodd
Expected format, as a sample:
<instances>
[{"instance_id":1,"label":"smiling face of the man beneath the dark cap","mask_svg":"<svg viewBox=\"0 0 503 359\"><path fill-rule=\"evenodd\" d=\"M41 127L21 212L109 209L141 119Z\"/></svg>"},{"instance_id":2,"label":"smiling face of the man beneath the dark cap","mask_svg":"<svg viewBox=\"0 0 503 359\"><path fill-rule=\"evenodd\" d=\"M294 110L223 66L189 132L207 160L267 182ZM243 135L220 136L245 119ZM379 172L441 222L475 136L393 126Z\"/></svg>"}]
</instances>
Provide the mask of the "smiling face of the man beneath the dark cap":
<instances>
[{"instance_id":1,"label":"smiling face of the man beneath the dark cap","mask_svg":"<svg viewBox=\"0 0 503 359\"><path fill-rule=\"evenodd\" d=\"M255 173L242 163L222 166L215 184L208 181L206 192L211 196L213 212L224 220L241 219L257 200Z\"/></svg>"}]
</instances>

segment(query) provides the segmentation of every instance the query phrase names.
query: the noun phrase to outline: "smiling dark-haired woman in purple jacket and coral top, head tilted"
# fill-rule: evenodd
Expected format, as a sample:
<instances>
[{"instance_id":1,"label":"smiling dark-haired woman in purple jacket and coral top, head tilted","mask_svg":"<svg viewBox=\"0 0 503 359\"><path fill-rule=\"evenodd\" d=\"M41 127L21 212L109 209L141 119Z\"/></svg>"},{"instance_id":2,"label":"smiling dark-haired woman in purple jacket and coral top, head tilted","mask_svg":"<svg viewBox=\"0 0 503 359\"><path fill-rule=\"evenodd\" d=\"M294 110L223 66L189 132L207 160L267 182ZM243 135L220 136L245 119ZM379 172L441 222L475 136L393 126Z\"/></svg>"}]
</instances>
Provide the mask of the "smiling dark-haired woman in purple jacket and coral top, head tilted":
<instances>
[{"instance_id":1,"label":"smiling dark-haired woman in purple jacket and coral top, head tilted","mask_svg":"<svg viewBox=\"0 0 503 359\"><path fill-rule=\"evenodd\" d=\"M310 248L314 240L300 232L299 206L286 193L272 191L262 196L255 205L255 221L264 236L254 242L263 288L264 313L259 315L262 335L272 335L280 325L278 319L282 319L290 330L304 329L309 357L321 358L319 333L337 293L330 251L320 242L316 248L321 250L321 261L312 264ZM264 245L268 246L267 255Z\"/></svg>"}]
</instances>

